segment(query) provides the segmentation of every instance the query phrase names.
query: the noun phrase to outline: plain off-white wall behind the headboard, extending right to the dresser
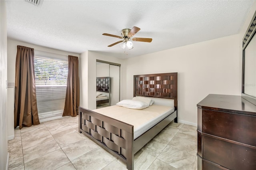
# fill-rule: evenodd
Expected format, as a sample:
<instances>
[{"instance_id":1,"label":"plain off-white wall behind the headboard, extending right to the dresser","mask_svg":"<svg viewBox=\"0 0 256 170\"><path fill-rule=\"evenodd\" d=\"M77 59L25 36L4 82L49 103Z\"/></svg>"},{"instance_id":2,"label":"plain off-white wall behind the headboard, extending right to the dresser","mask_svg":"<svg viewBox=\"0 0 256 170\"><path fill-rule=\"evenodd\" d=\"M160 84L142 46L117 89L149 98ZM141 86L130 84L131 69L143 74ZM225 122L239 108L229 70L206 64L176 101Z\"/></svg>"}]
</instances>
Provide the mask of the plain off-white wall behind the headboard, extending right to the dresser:
<instances>
[{"instance_id":1,"label":"plain off-white wall behind the headboard, extending right to the dresser","mask_svg":"<svg viewBox=\"0 0 256 170\"><path fill-rule=\"evenodd\" d=\"M239 35L126 59L126 97L133 75L178 72L178 121L197 125L197 107L209 93L240 95Z\"/></svg>"}]
</instances>

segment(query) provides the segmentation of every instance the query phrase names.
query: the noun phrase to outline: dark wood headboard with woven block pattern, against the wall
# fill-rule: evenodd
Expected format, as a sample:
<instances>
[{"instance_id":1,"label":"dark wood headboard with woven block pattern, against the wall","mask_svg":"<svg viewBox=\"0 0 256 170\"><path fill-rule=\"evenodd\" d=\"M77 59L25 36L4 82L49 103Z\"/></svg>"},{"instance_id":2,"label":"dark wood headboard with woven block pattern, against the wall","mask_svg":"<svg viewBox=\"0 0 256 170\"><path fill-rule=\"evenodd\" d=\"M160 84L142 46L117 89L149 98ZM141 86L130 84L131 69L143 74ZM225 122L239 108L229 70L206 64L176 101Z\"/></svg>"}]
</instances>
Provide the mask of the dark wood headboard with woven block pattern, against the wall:
<instances>
[{"instance_id":1,"label":"dark wood headboard with woven block pattern, against the wall","mask_svg":"<svg viewBox=\"0 0 256 170\"><path fill-rule=\"evenodd\" d=\"M134 75L133 96L158 97L174 99L174 107L177 110L177 77L178 73L160 73Z\"/></svg>"}]
</instances>

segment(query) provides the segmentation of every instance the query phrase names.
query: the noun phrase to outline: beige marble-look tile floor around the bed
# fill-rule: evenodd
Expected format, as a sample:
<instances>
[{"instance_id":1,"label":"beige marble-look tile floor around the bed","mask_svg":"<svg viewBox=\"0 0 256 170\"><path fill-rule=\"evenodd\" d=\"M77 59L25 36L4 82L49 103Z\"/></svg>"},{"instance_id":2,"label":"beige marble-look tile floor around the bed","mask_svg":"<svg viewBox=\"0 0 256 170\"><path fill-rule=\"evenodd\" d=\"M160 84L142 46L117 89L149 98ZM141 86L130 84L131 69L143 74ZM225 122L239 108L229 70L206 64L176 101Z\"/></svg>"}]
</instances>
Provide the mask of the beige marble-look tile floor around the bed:
<instances>
[{"instance_id":1,"label":"beige marble-look tile floor around the bed","mask_svg":"<svg viewBox=\"0 0 256 170\"><path fill-rule=\"evenodd\" d=\"M134 156L135 170L196 170L196 127L170 123ZM78 132L78 117L15 129L9 170L125 170L126 165ZM90 164L89 164L90 163Z\"/></svg>"}]
</instances>

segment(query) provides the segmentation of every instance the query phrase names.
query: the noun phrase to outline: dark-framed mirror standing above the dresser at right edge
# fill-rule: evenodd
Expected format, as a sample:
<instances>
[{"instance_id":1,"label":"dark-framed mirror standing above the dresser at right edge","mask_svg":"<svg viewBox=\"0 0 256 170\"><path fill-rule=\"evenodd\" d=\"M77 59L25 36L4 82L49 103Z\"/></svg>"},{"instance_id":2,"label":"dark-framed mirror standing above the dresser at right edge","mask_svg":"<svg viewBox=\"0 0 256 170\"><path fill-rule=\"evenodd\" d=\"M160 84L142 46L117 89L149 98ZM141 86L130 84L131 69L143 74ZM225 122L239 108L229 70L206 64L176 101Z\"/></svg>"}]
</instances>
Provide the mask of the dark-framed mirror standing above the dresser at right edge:
<instances>
[{"instance_id":1,"label":"dark-framed mirror standing above the dresser at right edge","mask_svg":"<svg viewBox=\"0 0 256 170\"><path fill-rule=\"evenodd\" d=\"M244 36L242 97L256 105L256 12Z\"/></svg>"}]
</instances>

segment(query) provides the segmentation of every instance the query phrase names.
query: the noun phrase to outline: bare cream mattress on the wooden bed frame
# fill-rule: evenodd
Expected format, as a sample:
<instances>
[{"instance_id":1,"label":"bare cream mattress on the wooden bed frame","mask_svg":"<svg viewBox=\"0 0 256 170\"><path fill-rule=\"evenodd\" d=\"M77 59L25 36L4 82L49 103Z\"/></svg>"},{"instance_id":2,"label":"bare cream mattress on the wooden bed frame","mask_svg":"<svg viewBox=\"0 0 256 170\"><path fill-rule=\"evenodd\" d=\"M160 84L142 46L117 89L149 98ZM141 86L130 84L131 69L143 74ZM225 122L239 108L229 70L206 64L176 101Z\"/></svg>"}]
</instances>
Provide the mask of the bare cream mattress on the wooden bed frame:
<instances>
[{"instance_id":1,"label":"bare cream mattress on the wooden bed frame","mask_svg":"<svg viewBox=\"0 0 256 170\"><path fill-rule=\"evenodd\" d=\"M134 139L174 112L174 107L152 105L142 110L117 105L93 110L102 115L134 126Z\"/></svg>"}]
</instances>

